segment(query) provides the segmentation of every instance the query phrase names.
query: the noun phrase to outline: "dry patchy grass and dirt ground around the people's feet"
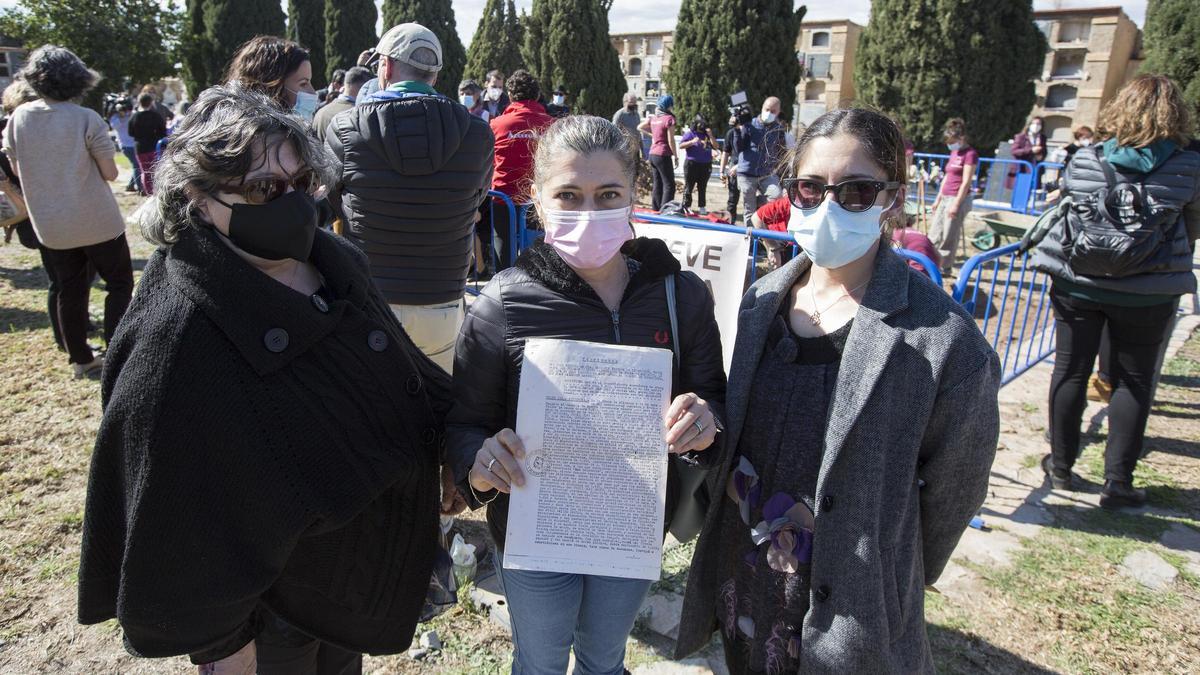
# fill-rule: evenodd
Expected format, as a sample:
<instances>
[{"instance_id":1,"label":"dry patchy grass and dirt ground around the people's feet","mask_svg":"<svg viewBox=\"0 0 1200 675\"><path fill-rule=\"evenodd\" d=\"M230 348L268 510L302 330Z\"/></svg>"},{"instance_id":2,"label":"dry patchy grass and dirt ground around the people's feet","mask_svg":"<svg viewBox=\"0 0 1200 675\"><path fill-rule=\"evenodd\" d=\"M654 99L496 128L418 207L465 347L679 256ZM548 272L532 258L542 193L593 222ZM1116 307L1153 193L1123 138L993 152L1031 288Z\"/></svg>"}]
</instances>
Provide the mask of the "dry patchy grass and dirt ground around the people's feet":
<instances>
[{"instance_id":1,"label":"dry patchy grass and dirt ground around the people's feet","mask_svg":"<svg viewBox=\"0 0 1200 675\"><path fill-rule=\"evenodd\" d=\"M119 199L126 210L137 203L124 193ZM710 193L709 201L716 196ZM151 247L132 229L130 241L140 270ZM0 673L185 671L190 668L186 659L131 657L114 622L91 627L76 622L79 536L100 419L98 384L70 377L66 356L50 338L44 288L35 251L16 240L0 246ZM101 307L102 295L95 289L97 323ZM1044 388L1013 392L1002 406L1001 458L1013 466L1025 465L1025 473L1019 467L1014 471L1031 486L1045 490L1039 488L1040 473L1028 468L1044 452ZM1103 425L1093 430L1090 442L1079 470L1094 484ZM967 592L930 593L929 632L942 671L1195 671L1200 663L1200 567L1171 557L1158 542L1175 526L1187 528L1184 533L1200 531L1200 338L1168 364L1147 447L1139 480L1151 490L1156 508L1105 514L1069 502L1048 502L1050 524L1026 532L1007 565L964 563L972 578L964 586ZM478 518L463 527L482 542ZM1181 580L1171 591L1147 593L1117 575L1123 555L1139 546L1162 549L1181 568ZM686 561L671 565L665 583L673 584ZM470 603L426 628L437 629L445 641L440 653L424 661L406 655L368 658L366 670L505 670L506 633ZM631 643L631 669L661 661L653 643L650 638Z\"/></svg>"}]
</instances>

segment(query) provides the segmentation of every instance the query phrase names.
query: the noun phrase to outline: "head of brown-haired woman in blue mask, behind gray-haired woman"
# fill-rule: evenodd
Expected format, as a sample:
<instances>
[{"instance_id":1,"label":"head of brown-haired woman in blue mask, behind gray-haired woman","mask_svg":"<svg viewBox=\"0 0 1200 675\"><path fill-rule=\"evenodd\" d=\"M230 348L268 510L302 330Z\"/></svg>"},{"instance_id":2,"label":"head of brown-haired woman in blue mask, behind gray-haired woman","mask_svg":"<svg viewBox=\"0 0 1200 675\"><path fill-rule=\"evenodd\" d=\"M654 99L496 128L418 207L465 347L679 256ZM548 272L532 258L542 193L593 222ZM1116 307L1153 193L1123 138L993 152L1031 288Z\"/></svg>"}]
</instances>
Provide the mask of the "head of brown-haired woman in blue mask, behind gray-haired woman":
<instances>
[{"instance_id":1,"label":"head of brown-haired woman in blue mask, behind gray-haired woman","mask_svg":"<svg viewBox=\"0 0 1200 675\"><path fill-rule=\"evenodd\" d=\"M224 80L265 94L307 123L320 106L312 86L308 52L282 37L260 35L242 44L229 61Z\"/></svg>"}]
</instances>

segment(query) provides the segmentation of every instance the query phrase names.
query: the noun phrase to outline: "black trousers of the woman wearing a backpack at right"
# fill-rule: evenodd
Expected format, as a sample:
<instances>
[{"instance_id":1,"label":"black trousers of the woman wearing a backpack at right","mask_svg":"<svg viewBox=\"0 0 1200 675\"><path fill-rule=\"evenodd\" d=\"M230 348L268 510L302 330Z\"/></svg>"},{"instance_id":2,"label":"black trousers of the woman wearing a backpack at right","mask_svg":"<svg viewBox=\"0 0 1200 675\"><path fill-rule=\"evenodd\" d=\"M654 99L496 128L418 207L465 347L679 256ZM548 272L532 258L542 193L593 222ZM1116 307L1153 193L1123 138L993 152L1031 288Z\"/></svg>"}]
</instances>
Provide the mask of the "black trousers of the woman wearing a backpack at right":
<instances>
[{"instance_id":1,"label":"black trousers of the woman wearing a backpack at right","mask_svg":"<svg viewBox=\"0 0 1200 675\"><path fill-rule=\"evenodd\" d=\"M1176 303L1122 307L1072 298L1055 288L1050 301L1058 319L1054 376L1050 380L1050 446L1054 467L1067 471L1080 453L1080 426L1087 406L1087 378L1109 329L1109 438L1104 479L1133 480L1153 402L1158 354Z\"/></svg>"}]
</instances>

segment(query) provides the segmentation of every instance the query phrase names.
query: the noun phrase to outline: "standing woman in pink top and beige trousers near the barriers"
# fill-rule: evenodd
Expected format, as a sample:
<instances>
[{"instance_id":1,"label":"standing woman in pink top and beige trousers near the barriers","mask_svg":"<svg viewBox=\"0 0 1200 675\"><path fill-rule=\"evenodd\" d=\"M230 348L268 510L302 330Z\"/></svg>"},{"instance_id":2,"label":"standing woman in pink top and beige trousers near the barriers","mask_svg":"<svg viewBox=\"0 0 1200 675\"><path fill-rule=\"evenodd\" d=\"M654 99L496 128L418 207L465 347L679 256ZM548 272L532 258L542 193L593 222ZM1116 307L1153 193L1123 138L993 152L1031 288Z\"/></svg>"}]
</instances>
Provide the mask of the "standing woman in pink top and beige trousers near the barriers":
<instances>
[{"instance_id":1,"label":"standing woman in pink top and beige trousers near the barriers","mask_svg":"<svg viewBox=\"0 0 1200 675\"><path fill-rule=\"evenodd\" d=\"M971 183L979 166L979 153L967 143L967 126L961 118L946 123L943 137L950 149L950 159L946 162L942 189L934 201L929 238L942 257L942 274L949 274L962 238L962 222L971 213Z\"/></svg>"}]
</instances>

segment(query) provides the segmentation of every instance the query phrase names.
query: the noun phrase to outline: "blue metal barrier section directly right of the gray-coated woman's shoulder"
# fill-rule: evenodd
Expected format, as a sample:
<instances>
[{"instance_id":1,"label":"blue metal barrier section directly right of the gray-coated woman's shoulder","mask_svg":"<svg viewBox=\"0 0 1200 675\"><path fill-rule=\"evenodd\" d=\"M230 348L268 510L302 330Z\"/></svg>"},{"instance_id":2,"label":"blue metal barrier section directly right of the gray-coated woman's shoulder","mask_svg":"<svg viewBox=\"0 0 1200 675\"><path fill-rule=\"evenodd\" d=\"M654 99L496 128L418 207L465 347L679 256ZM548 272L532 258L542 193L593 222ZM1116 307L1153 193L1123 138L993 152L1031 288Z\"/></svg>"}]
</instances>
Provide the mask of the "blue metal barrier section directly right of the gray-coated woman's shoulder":
<instances>
[{"instance_id":1,"label":"blue metal barrier section directly right of the gray-coated woman's shoulder","mask_svg":"<svg viewBox=\"0 0 1200 675\"><path fill-rule=\"evenodd\" d=\"M1030 265L1020 244L979 253L962 265L954 299L979 324L1008 384L1055 351L1050 276Z\"/></svg>"}]
</instances>

